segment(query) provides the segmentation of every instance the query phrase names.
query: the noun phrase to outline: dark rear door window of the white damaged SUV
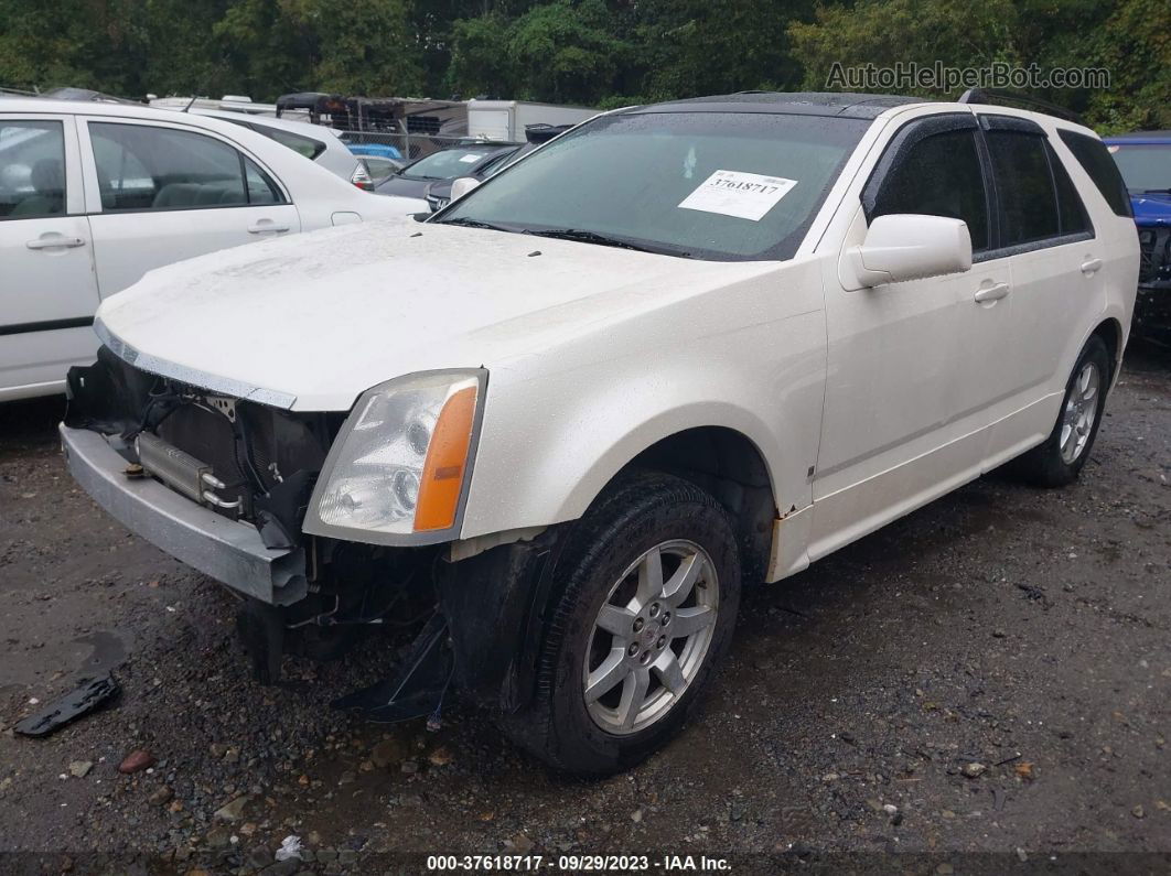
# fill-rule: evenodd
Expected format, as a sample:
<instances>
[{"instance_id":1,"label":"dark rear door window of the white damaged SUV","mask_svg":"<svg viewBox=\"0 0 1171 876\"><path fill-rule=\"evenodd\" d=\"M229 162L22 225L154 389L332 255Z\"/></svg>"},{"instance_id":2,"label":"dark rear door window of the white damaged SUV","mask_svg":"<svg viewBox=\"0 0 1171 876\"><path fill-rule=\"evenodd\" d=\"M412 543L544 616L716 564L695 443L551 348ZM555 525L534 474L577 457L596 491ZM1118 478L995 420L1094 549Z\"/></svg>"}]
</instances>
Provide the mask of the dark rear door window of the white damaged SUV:
<instances>
[{"instance_id":1,"label":"dark rear door window of the white damaged SUV","mask_svg":"<svg viewBox=\"0 0 1171 876\"><path fill-rule=\"evenodd\" d=\"M988 131L987 138L1000 201L1000 246L1056 237L1061 222L1045 138L1015 131Z\"/></svg>"}]
</instances>

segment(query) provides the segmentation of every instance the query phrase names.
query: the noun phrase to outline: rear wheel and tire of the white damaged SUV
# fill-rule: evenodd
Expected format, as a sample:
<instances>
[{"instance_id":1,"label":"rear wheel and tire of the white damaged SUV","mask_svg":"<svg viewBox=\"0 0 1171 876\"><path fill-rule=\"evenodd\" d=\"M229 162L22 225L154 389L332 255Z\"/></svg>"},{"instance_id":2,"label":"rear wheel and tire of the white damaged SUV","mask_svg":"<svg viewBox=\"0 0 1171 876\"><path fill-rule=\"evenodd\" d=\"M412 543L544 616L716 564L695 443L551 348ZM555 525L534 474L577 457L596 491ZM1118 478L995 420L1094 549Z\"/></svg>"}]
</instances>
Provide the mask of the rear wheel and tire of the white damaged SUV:
<instances>
[{"instance_id":1,"label":"rear wheel and tire of the white damaged SUV","mask_svg":"<svg viewBox=\"0 0 1171 876\"><path fill-rule=\"evenodd\" d=\"M1094 448L1109 386L1110 353L1095 334L1077 357L1049 437L1018 460L1016 470L1025 480L1038 487L1064 487L1077 480Z\"/></svg>"}]
</instances>

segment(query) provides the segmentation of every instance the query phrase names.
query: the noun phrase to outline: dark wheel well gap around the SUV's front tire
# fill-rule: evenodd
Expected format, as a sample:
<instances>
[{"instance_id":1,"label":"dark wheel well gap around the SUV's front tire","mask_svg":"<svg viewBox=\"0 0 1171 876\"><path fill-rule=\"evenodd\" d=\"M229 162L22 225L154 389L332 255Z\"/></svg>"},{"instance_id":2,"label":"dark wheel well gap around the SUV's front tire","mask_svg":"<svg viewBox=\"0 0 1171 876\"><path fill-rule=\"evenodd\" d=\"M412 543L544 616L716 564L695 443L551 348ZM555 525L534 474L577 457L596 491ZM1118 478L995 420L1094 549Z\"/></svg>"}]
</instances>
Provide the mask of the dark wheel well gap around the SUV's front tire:
<instances>
[{"instance_id":1,"label":"dark wheel well gap around the SUV's front tire","mask_svg":"<svg viewBox=\"0 0 1171 876\"><path fill-rule=\"evenodd\" d=\"M646 448L631 467L666 471L712 494L735 522L744 581L765 580L778 511L768 467L748 437L719 426L687 429Z\"/></svg>"}]
</instances>

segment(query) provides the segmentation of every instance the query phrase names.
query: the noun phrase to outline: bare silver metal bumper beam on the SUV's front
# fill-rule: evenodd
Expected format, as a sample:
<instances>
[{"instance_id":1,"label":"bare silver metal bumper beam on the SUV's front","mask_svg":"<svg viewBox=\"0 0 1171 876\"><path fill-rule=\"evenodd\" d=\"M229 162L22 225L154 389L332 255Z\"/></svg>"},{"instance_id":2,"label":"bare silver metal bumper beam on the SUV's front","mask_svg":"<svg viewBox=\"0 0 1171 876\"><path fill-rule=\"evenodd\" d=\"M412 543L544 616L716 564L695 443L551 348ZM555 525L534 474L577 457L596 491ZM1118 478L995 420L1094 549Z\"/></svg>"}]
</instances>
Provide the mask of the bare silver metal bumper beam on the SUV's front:
<instances>
[{"instance_id":1,"label":"bare silver metal bumper beam on the SUV's front","mask_svg":"<svg viewBox=\"0 0 1171 876\"><path fill-rule=\"evenodd\" d=\"M197 505L152 478L128 478L126 461L96 432L64 423L60 432L70 474L135 534L262 602L285 606L306 596L302 549L268 549L254 526Z\"/></svg>"}]
</instances>

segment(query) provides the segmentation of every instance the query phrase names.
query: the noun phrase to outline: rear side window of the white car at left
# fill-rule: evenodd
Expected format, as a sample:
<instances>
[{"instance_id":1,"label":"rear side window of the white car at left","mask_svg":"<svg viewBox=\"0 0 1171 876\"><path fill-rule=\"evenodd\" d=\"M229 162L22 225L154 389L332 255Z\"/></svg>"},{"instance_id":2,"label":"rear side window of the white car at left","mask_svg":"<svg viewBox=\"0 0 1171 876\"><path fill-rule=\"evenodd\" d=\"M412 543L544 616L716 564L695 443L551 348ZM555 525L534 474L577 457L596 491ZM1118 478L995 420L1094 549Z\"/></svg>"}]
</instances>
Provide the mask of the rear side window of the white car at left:
<instances>
[{"instance_id":1,"label":"rear side window of the white car at left","mask_svg":"<svg viewBox=\"0 0 1171 876\"><path fill-rule=\"evenodd\" d=\"M91 122L89 131L103 211L210 209L283 200L259 167L212 137L104 122Z\"/></svg>"}]
</instances>

